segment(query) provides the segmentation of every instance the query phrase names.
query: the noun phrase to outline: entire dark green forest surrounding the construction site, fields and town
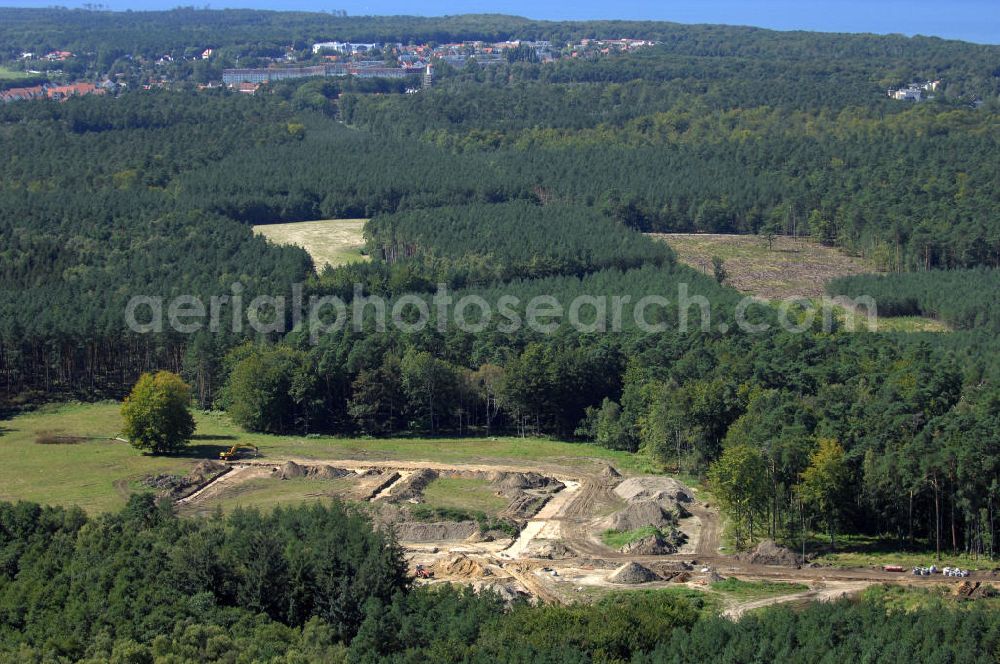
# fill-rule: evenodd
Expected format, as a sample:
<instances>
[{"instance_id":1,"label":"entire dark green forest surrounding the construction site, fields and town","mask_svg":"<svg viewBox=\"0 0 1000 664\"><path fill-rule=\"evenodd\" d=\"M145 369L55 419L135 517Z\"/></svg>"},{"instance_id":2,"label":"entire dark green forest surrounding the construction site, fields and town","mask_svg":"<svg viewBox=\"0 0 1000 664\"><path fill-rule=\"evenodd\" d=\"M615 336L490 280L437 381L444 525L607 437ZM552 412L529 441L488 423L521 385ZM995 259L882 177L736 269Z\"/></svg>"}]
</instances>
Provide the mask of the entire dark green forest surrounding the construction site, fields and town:
<instances>
[{"instance_id":1,"label":"entire dark green forest surrounding the construction site, fields and town","mask_svg":"<svg viewBox=\"0 0 1000 664\"><path fill-rule=\"evenodd\" d=\"M67 67L95 78L195 45L214 45L206 66L221 70L333 37L621 35L659 44L553 63L442 63L414 94L325 78L254 95L199 90L218 72L178 64L166 89L0 104L0 414L121 398L141 373L167 369L198 407L251 431L546 435L710 479L739 459L767 481L737 487L732 502L744 507L730 516L777 539L801 534L797 487L832 454L845 481L836 508L809 515L816 530L1000 554L1000 47L505 16L0 9L4 59L67 48L81 54ZM933 99L886 96L925 79L943 81ZM318 269L251 229L329 218L370 219L370 261ZM718 320L733 318L741 295L646 232L810 237L882 272L836 280L831 294L871 295L883 315L931 316L953 331L818 320L783 331L763 305L751 318L766 332L682 331L680 285ZM134 296L207 300L236 294L234 284L243 302L292 300L301 288L390 306L429 303L444 286L456 298L515 295L508 313L520 318L534 296L629 303L610 330L509 331L494 319L469 331L433 307L420 331L319 338L290 315L263 332L125 325ZM633 322L651 294L672 301L655 312L655 333ZM0 661L816 661L820 649L829 661L972 662L1000 652L996 613L980 608L903 613L867 597L732 622L697 600L636 595L506 610L489 594L411 587L401 555L391 534L339 505L186 520L138 498L100 517L3 503Z\"/></svg>"}]
</instances>

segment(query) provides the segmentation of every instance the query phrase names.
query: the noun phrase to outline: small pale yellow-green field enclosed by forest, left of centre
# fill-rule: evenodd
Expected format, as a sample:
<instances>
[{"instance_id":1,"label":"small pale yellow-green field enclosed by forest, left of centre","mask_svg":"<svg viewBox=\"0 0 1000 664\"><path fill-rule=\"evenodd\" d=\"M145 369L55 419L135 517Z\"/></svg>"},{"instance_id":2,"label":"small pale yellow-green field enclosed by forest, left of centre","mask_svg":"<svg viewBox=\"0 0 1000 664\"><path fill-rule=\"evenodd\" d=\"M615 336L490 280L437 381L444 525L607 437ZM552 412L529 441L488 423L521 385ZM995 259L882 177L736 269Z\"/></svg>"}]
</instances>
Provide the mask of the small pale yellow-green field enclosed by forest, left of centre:
<instances>
[{"instance_id":1,"label":"small pale yellow-green field enclosed by forest, left of centre","mask_svg":"<svg viewBox=\"0 0 1000 664\"><path fill-rule=\"evenodd\" d=\"M368 260L361 253L365 240L362 236L367 219L326 219L323 221L298 221L291 224L264 224L254 226L275 244L293 244L309 252L321 270L324 265L336 267L346 263Z\"/></svg>"}]
</instances>

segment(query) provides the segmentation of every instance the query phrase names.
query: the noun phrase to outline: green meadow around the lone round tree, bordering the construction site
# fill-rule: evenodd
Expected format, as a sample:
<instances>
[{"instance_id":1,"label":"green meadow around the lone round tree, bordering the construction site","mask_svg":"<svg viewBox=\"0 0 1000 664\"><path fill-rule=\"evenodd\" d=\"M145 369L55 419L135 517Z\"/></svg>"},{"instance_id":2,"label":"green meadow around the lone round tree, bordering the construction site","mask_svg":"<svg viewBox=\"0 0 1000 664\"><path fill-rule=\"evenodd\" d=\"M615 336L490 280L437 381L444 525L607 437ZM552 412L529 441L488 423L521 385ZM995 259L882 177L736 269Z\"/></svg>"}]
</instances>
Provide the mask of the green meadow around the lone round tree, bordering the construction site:
<instances>
[{"instance_id":1,"label":"green meadow around the lone round tree, bordering the construction site","mask_svg":"<svg viewBox=\"0 0 1000 664\"><path fill-rule=\"evenodd\" d=\"M574 466L599 458L622 470L636 471L643 465L640 457L624 452L541 438L371 440L248 434L221 413L195 413L195 439L183 456L152 457L113 440L121 427L118 411L115 403L51 405L0 422L0 500L77 504L91 513L117 509L131 492L141 488L143 477L186 474L198 460L218 458L219 452L235 442L256 445L262 456L276 459L507 461ZM91 439L75 445L41 445L35 439L43 432ZM283 502L285 493L303 497L326 490L315 484L299 487L292 480L277 484L257 487L253 502Z\"/></svg>"}]
</instances>

